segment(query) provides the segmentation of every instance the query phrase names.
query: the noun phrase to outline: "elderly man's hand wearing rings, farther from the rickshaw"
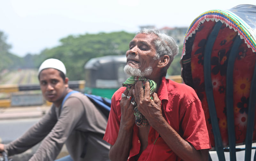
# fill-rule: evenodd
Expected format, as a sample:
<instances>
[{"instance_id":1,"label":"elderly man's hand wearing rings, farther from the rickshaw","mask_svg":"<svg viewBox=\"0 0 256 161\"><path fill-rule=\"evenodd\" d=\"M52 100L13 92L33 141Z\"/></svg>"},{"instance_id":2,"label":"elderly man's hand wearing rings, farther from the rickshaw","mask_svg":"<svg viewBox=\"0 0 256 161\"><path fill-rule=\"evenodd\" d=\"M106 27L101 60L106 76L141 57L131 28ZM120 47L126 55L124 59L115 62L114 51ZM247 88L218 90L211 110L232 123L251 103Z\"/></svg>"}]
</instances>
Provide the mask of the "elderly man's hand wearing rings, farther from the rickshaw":
<instances>
[{"instance_id":1,"label":"elderly man's hand wearing rings, farther from the rickshaw","mask_svg":"<svg viewBox=\"0 0 256 161\"><path fill-rule=\"evenodd\" d=\"M134 86L131 87L130 91L128 91L128 88L125 89L124 94L129 96L132 96L132 90L134 89ZM131 100L129 100L127 97L123 97L120 101L120 107L121 107L121 124L123 124L127 128L132 128L135 123L135 115L134 115L134 106L131 103Z\"/></svg>"}]
</instances>

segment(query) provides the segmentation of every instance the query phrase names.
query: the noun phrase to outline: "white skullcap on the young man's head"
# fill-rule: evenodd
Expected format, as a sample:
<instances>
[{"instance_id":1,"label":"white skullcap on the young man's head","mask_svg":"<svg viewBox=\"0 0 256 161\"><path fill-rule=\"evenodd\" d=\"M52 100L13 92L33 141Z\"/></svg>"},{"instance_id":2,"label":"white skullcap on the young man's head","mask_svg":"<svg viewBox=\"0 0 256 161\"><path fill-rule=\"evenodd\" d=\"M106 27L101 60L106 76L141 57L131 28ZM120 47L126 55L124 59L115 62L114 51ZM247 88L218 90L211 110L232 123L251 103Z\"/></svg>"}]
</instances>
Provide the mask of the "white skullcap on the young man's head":
<instances>
[{"instance_id":1,"label":"white skullcap on the young man's head","mask_svg":"<svg viewBox=\"0 0 256 161\"><path fill-rule=\"evenodd\" d=\"M66 75L66 67L65 65L58 59L47 59L44 60L44 62L41 64L41 66L38 69L38 75L40 74L40 72L46 68L54 68L54 69L58 69L61 72L63 72Z\"/></svg>"}]
</instances>

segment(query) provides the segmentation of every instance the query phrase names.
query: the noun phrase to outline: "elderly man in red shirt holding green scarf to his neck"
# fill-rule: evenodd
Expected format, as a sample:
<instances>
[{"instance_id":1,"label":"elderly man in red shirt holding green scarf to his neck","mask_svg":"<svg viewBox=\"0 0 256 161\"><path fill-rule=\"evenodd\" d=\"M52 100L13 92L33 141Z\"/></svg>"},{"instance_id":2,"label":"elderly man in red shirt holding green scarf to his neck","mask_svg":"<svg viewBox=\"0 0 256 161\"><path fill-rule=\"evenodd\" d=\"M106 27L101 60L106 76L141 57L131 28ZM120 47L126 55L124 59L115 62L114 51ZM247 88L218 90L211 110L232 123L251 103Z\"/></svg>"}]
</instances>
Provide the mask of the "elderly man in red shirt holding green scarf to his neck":
<instances>
[{"instance_id":1,"label":"elderly man in red shirt holding green scarf to his neck","mask_svg":"<svg viewBox=\"0 0 256 161\"><path fill-rule=\"evenodd\" d=\"M110 160L208 160L200 100L189 86L165 79L178 50L157 30L144 29L130 42L124 71L132 77L112 97L103 138Z\"/></svg>"}]
</instances>

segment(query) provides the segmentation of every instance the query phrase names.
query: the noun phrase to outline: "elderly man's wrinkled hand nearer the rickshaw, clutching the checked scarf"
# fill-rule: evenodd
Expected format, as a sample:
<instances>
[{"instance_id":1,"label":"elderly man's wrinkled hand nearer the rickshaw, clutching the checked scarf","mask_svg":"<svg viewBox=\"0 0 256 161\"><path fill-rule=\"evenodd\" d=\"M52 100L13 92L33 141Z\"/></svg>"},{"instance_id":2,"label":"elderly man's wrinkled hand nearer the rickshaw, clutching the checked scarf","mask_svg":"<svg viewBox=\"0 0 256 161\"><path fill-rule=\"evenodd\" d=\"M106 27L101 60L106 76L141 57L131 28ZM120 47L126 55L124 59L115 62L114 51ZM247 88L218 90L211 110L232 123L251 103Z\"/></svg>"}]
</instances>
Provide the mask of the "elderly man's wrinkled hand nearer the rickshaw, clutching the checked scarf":
<instances>
[{"instance_id":1,"label":"elderly man's wrinkled hand nearer the rickshaw, clutching the checked scarf","mask_svg":"<svg viewBox=\"0 0 256 161\"><path fill-rule=\"evenodd\" d=\"M132 94L135 96L138 110L148 120L149 124L156 121L157 118L163 117L161 109L161 101L157 94L152 93L153 100L150 98L150 85L146 81L145 89L143 89L142 81L137 81Z\"/></svg>"}]
</instances>

